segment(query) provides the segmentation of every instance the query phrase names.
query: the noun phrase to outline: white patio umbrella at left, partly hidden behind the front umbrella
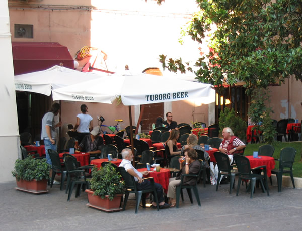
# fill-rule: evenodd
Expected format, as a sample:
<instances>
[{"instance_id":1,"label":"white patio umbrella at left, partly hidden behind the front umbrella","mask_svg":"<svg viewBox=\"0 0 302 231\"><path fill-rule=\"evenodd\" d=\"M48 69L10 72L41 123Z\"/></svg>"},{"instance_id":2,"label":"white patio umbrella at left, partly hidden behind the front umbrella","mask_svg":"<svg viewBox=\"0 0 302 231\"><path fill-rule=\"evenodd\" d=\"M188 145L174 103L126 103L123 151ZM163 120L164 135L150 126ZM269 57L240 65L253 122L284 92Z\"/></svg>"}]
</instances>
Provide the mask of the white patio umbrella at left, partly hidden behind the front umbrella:
<instances>
[{"instance_id":1,"label":"white patio umbrella at left, partly hidden behind the front umbrella","mask_svg":"<svg viewBox=\"0 0 302 231\"><path fill-rule=\"evenodd\" d=\"M102 75L84 73L66 67L53 66L47 70L15 76L15 89L49 96L52 89L100 78Z\"/></svg>"}]
</instances>

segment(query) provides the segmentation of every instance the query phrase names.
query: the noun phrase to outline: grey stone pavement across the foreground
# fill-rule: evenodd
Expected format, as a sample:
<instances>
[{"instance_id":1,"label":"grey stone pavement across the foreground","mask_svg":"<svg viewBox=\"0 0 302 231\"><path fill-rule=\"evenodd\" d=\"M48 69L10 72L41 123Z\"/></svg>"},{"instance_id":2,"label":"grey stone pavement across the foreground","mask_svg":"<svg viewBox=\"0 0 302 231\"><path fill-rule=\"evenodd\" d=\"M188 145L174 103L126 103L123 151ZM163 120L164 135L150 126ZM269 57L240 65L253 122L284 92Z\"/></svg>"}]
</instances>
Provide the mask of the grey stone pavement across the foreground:
<instances>
[{"instance_id":1,"label":"grey stone pavement across the foreground","mask_svg":"<svg viewBox=\"0 0 302 231\"><path fill-rule=\"evenodd\" d=\"M237 182L236 182L237 184ZM0 184L0 230L300 230L302 190L270 186L270 196L256 189L254 198L241 186L239 195L230 195L228 184L218 192L214 185L199 184L201 207L191 204L184 191L180 208L157 211L139 208L134 213L134 197L125 211L106 213L89 208L82 192L67 201L59 185L49 193L34 195L14 189L16 182Z\"/></svg>"}]
</instances>

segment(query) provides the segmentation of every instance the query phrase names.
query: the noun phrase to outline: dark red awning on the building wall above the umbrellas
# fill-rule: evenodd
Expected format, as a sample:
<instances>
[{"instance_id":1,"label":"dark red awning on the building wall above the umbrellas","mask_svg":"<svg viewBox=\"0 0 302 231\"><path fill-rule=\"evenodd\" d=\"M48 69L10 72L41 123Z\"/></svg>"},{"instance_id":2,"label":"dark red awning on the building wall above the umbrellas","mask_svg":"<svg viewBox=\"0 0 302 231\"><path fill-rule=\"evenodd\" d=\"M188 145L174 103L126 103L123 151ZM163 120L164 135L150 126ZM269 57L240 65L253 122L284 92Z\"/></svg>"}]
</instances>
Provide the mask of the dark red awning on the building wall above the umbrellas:
<instances>
[{"instance_id":1,"label":"dark red awning on the building wall above the umbrellas","mask_svg":"<svg viewBox=\"0 0 302 231\"><path fill-rule=\"evenodd\" d=\"M74 68L68 48L59 43L12 42L15 75L41 71L63 64Z\"/></svg>"}]
</instances>

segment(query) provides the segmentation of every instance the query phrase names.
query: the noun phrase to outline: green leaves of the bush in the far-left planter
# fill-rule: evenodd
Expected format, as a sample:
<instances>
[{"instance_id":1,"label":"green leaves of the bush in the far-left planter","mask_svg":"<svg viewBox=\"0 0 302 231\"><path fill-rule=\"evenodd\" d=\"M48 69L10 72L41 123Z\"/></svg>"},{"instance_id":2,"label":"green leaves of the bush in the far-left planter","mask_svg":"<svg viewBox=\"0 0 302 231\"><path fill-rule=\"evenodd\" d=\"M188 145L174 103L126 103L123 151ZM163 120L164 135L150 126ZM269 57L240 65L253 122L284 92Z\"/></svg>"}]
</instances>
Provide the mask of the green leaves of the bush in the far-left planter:
<instances>
[{"instance_id":1,"label":"green leaves of the bush in the far-left planter","mask_svg":"<svg viewBox=\"0 0 302 231\"><path fill-rule=\"evenodd\" d=\"M35 159L29 156L24 160L16 160L12 175L17 180L48 180L50 168L51 166L46 163L46 159Z\"/></svg>"}]
</instances>

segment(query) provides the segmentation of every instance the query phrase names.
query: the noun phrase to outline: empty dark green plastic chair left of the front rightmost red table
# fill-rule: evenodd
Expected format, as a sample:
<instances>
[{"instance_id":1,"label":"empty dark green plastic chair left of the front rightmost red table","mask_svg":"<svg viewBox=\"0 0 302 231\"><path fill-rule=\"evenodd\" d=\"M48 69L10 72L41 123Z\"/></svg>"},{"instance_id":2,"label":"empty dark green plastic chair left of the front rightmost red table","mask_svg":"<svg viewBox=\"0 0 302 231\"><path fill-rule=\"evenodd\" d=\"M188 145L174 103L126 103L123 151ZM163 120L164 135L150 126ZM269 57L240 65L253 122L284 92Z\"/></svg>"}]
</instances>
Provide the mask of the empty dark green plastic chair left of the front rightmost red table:
<instances>
[{"instance_id":1,"label":"empty dark green plastic chair left of the front rightmost red table","mask_svg":"<svg viewBox=\"0 0 302 231\"><path fill-rule=\"evenodd\" d=\"M246 158L244 156L241 156L241 155L234 155L233 158L235 160L235 163L236 163L236 166L237 166L237 169L238 169L238 185L237 185L236 196L238 196L242 180L250 180L251 181L250 184L249 184L249 187L251 189L251 198L253 198L256 180L260 180L262 192L265 192L265 188L266 188L267 196L269 196L266 166L262 165L262 166L258 166L256 168L251 169L250 161L249 161L248 158ZM263 175L252 173L252 170L256 170L256 169L259 169L259 168L263 168ZM265 180L265 187L263 185L263 180Z\"/></svg>"}]
</instances>

